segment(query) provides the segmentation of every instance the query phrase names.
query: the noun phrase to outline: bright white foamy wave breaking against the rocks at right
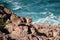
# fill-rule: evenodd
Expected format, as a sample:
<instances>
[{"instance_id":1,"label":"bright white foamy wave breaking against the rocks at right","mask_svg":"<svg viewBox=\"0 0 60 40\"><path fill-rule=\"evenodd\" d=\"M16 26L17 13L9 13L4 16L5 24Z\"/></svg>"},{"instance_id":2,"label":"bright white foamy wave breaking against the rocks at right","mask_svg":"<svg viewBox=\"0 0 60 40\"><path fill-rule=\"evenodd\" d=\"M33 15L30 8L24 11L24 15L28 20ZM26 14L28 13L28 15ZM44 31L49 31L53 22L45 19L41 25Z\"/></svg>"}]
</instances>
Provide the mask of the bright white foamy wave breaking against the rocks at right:
<instances>
[{"instance_id":1,"label":"bright white foamy wave breaking against the rocks at right","mask_svg":"<svg viewBox=\"0 0 60 40\"><path fill-rule=\"evenodd\" d=\"M60 17L59 17L60 18ZM39 24L39 23L49 23L53 25L59 25L60 19L57 19L57 16L55 16L53 13L49 12L49 15L45 18L39 18L36 21L33 22L33 24Z\"/></svg>"}]
</instances>

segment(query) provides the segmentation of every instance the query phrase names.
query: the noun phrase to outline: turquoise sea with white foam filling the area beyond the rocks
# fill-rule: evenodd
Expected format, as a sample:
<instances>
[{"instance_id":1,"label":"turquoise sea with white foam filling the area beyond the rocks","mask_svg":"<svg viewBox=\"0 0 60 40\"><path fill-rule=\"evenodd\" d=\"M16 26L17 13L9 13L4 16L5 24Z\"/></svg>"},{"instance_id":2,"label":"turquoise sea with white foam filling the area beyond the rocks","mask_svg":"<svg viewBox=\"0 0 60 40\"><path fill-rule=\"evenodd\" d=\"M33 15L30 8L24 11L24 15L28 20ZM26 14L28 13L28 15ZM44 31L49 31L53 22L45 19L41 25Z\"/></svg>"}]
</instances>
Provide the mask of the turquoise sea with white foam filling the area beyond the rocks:
<instances>
[{"instance_id":1,"label":"turquoise sea with white foam filling the area beyond the rocks","mask_svg":"<svg viewBox=\"0 0 60 40\"><path fill-rule=\"evenodd\" d=\"M32 23L60 25L60 0L0 0L0 4L18 16L32 18Z\"/></svg>"}]
</instances>

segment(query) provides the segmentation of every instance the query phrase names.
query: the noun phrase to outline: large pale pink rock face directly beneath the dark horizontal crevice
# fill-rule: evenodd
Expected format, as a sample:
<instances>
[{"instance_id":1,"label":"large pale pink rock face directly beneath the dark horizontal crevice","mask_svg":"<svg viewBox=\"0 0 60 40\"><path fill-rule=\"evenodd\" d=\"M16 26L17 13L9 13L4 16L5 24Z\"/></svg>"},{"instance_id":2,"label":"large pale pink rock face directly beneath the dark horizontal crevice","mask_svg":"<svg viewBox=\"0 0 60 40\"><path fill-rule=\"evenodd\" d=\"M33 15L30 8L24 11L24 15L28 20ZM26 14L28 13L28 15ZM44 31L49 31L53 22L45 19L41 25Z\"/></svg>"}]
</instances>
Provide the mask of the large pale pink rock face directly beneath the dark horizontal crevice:
<instances>
[{"instance_id":1,"label":"large pale pink rock face directly beneath the dark horizontal crevice","mask_svg":"<svg viewBox=\"0 0 60 40\"><path fill-rule=\"evenodd\" d=\"M27 35L28 27L26 26L16 26L13 31L10 33L12 38L21 38Z\"/></svg>"}]
</instances>

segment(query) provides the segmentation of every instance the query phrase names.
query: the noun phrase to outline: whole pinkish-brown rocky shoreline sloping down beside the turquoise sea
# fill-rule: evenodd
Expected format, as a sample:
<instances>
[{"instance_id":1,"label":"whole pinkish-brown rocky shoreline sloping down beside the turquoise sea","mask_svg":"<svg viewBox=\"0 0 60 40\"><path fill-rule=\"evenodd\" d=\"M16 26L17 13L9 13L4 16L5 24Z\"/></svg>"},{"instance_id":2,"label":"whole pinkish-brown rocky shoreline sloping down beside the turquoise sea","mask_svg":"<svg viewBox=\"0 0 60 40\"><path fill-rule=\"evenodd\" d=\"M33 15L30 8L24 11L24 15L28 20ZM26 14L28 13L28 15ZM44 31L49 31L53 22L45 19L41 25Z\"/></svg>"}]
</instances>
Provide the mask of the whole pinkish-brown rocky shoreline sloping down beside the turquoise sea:
<instances>
[{"instance_id":1,"label":"whole pinkish-brown rocky shoreline sloping down beside the turquoise sea","mask_svg":"<svg viewBox=\"0 0 60 40\"><path fill-rule=\"evenodd\" d=\"M32 19L20 17L0 5L0 40L60 40L60 27L32 24Z\"/></svg>"}]
</instances>

